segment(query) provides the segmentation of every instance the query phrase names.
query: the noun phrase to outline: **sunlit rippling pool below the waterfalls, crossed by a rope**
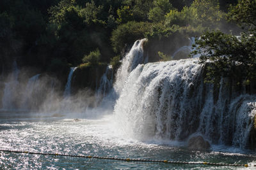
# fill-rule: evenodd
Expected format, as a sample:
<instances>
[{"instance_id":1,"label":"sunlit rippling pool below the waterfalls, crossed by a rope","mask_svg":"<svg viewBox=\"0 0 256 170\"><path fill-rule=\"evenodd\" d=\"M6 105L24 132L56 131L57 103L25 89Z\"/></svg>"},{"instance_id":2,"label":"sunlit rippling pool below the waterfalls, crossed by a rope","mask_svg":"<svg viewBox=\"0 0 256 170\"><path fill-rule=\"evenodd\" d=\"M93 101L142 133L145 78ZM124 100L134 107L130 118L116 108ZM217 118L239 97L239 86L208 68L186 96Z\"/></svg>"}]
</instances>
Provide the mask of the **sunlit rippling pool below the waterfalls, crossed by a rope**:
<instances>
[{"instance_id":1,"label":"sunlit rippling pool below the waterfalls, crossed by a rope","mask_svg":"<svg viewBox=\"0 0 256 170\"><path fill-rule=\"evenodd\" d=\"M78 119L76 119L78 118ZM116 131L112 115L84 117L50 113L0 113L0 149L95 155L131 159L256 164L252 151L212 146L209 152L188 150L186 143L136 141ZM116 121L116 120L115 120ZM0 152L0 169L246 169L151 162L124 162L52 155ZM248 169L248 168L247 168Z\"/></svg>"}]
</instances>

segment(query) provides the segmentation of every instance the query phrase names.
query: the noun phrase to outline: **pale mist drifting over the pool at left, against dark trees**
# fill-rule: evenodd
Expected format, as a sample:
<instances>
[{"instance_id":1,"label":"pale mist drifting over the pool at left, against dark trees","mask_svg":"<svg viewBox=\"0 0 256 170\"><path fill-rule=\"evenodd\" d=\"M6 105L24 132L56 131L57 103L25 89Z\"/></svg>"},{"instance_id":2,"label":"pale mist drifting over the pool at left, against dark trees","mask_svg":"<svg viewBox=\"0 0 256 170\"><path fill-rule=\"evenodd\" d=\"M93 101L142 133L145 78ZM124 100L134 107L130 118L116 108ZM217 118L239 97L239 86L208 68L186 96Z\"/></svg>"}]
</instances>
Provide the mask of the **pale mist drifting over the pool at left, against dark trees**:
<instances>
[{"instance_id":1,"label":"pale mist drifting over the pool at left, against dark trees","mask_svg":"<svg viewBox=\"0 0 256 170\"><path fill-rule=\"evenodd\" d=\"M26 113L51 113L52 117L92 111L99 104L99 94L90 89L80 89L76 94L71 87L63 87L58 78L49 74L34 74L13 64L12 73L2 77L0 86L0 111ZM66 88L66 89L65 89ZM70 93L67 94L67 88Z\"/></svg>"}]
</instances>

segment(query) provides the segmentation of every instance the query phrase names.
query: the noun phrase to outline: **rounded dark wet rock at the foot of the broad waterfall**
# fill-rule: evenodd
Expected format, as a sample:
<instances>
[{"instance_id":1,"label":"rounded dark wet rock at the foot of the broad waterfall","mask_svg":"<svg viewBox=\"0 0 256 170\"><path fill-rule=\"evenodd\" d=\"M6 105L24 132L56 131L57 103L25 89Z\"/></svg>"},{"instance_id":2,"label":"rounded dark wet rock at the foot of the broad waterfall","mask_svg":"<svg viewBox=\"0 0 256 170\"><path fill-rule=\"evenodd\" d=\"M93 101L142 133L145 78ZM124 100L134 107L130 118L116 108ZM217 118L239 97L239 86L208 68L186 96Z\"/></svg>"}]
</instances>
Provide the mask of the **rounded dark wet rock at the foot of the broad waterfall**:
<instances>
[{"instance_id":1,"label":"rounded dark wet rock at the foot of the broad waterfall","mask_svg":"<svg viewBox=\"0 0 256 170\"><path fill-rule=\"evenodd\" d=\"M192 150L209 150L210 143L202 136L195 136L188 141L188 148Z\"/></svg>"}]
</instances>

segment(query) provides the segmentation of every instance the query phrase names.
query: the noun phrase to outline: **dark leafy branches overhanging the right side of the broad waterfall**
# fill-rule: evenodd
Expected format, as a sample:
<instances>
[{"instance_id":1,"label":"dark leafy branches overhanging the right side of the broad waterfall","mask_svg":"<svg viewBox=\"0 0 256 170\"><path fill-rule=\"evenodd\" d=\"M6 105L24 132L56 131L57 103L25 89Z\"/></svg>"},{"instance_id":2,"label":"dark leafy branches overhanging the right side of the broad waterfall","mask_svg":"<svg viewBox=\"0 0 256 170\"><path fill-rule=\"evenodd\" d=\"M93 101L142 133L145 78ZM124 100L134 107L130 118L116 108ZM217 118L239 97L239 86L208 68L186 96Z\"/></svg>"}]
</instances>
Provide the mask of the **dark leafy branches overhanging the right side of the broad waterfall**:
<instances>
[{"instance_id":1,"label":"dark leafy branches overhanging the right side of the broad waterfall","mask_svg":"<svg viewBox=\"0 0 256 170\"><path fill-rule=\"evenodd\" d=\"M200 62L211 61L207 67L207 81L220 76L237 76L244 80L256 78L256 36L242 34L241 38L220 31L206 32L194 54L201 54ZM239 68L239 69L237 69Z\"/></svg>"}]
</instances>

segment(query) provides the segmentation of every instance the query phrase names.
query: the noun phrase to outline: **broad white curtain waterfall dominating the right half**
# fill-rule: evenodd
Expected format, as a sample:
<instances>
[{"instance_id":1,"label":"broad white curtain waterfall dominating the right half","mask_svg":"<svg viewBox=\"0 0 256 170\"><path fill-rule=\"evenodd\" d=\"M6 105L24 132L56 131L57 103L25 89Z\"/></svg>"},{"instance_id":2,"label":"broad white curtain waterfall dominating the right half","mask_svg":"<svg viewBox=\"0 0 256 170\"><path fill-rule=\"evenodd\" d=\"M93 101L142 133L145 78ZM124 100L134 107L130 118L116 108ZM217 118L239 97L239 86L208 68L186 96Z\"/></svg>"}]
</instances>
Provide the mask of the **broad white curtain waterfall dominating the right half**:
<instances>
[{"instance_id":1,"label":"broad white curtain waterfall dominating the right half","mask_svg":"<svg viewBox=\"0 0 256 170\"><path fill-rule=\"evenodd\" d=\"M141 41L136 42L138 49ZM256 96L230 94L225 78L214 90L214 85L204 83L204 67L198 59L138 64L129 69L134 61L127 58L114 85L120 94L114 108L120 132L140 140L175 141L202 134L213 144L249 145Z\"/></svg>"}]
</instances>

